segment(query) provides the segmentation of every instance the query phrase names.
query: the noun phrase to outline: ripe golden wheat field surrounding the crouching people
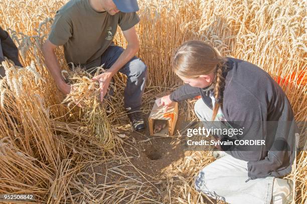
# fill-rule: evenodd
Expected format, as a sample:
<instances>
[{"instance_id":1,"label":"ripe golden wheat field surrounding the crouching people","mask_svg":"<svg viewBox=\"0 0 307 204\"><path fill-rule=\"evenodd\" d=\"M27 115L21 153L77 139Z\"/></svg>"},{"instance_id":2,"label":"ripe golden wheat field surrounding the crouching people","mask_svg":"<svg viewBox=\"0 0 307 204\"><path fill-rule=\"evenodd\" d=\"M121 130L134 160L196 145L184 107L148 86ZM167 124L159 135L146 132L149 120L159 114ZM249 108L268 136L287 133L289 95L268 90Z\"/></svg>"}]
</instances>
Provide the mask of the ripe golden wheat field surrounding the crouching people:
<instances>
[{"instance_id":1,"label":"ripe golden wheat field surrounding the crouching people","mask_svg":"<svg viewBox=\"0 0 307 204\"><path fill-rule=\"evenodd\" d=\"M214 203L193 188L193 175L212 162L184 158L173 185L167 179L163 197L152 193L149 183L135 182L119 167L125 181L95 186L81 178L84 168L95 162L128 162L117 152L125 135L117 129L128 124L123 114L125 76L117 74L115 97L110 110L98 105L87 90L96 91L86 73L69 72L63 49L58 56L63 75L80 83L67 97L56 85L44 63L41 46L50 31L53 17L67 0L0 0L1 26L8 30L20 52L20 68L6 60L6 78L0 80L0 194L33 193L41 203ZM300 145L306 147L307 112L307 4L304 0L139 0L141 18L137 24L140 50L137 56L148 66L143 96L144 111L150 111L153 95L162 96L182 85L170 69L171 55L188 39L201 39L225 56L250 61L267 71L283 88L291 102L295 119L301 121ZM118 30L114 42L125 47ZM79 74L76 74L79 73ZM86 94L85 94L86 93ZM74 103L78 95L87 100L86 110ZM186 119L195 119L193 100L182 108ZM94 107L94 108L89 108ZM96 137L95 137L96 136ZM196 157L195 157L196 158ZM189 168L187 165L189 165ZM297 154L286 178L295 183L296 199L307 198L307 153ZM139 171L134 169L135 171ZM93 176L90 175L94 179ZM172 183L169 184L169 183ZM220 201L222 202L222 201Z\"/></svg>"}]
</instances>

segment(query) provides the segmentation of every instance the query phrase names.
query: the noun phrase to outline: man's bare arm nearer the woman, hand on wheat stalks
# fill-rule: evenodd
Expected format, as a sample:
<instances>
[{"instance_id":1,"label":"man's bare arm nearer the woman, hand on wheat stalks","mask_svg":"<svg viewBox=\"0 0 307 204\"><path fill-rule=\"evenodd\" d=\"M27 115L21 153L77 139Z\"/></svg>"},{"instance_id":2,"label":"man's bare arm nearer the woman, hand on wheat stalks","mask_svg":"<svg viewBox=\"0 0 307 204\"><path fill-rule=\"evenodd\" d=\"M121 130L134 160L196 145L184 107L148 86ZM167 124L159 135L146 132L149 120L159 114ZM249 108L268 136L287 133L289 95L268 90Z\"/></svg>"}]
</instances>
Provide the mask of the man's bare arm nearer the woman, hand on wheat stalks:
<instances>
[{"instance_id":1,"label":"man's bare arm nearer the woman, hand on wheat stalks","mask_svg":"<svg viewBox=\"0 0 307 204\"><path fill-rule=\"evenodd\" d=\"M127 48L119 55L114 64L104 73L93 77L93 80L98 80L100 84L100 100L103 100L103 96L107 92L110 80L112 76L125 65L138 51L139 43L135 27L131 27L123 31L123 34L128 42Z\"/></svg>"}]
</instances>

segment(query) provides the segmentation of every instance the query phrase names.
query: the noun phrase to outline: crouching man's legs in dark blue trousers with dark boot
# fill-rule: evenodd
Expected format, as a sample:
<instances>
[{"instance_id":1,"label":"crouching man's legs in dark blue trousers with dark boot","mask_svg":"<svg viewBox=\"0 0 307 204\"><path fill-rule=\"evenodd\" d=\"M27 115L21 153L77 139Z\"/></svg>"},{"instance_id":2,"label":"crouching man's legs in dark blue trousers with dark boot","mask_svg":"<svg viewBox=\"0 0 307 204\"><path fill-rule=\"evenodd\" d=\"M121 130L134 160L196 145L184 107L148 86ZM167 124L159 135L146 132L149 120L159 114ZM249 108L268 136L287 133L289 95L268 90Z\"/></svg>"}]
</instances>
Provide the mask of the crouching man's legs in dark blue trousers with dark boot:
<instances>
[{"instance_id":1,"label":"crouching man's legs in dark blue trousers with dark boot","mask_svg":"<svg viewBox=\"0 0 307 204\"><path fill-rule=\"evenodd\" d=\"M101 56L101 64L110 68L124 49L111 44ZM128 117L134 130L144 128L144 120L140 116L141 96L144 92L147 76L147 66L136 56L132 57L119 72L127 76L124 89L124 107L128 110Z\"/></svg>"}]
</instances>

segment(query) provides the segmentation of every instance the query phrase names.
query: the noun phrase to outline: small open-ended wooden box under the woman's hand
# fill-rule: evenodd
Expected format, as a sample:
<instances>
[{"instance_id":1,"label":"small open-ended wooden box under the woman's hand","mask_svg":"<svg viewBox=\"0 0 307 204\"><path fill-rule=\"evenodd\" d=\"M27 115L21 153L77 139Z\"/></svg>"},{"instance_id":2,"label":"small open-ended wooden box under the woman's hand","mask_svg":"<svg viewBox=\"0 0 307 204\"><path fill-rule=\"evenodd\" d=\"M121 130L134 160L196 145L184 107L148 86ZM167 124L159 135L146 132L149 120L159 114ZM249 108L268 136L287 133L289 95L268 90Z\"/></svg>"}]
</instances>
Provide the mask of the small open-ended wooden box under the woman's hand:
<instances>
[{"instance_id":1,"label":"small open-ended wooden box under the woman's hand","mask_svg":"<svg viewBox=\"0 0 307 204\"><path fill-rule=\"evenodd\" d=\"M162 105L158 107L157 103L155 103L148 117L150 135L173 136L177 118L178 102L172 102L167 110ZM167 125L161 131L156 133L154 133L155 120L167 120Z\"/></svg>"}]
</instances>

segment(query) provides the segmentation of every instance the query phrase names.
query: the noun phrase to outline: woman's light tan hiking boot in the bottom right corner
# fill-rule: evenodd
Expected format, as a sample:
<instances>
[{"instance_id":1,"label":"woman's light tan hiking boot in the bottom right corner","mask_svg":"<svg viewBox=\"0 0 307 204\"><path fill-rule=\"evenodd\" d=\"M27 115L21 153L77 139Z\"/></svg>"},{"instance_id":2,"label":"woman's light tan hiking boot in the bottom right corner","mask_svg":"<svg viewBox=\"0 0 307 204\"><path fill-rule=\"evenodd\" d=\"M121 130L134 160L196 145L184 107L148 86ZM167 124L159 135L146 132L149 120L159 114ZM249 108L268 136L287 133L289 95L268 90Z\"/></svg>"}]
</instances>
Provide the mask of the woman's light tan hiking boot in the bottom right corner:
<instances>
[{"instance_id":1,"label":"woman's light tan hiking boot in the bottom right corner","mask_svg":"<svg viewBox=\"0 0 307 204\"><path fill-rule=\"evenodd\" d=\"M284 178L274 178L271 203L290 204L292 203L292 198L293 181Z\"/></svg>"}]
</instances>

